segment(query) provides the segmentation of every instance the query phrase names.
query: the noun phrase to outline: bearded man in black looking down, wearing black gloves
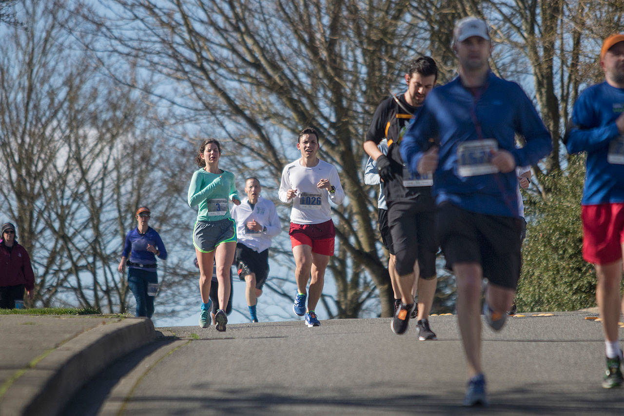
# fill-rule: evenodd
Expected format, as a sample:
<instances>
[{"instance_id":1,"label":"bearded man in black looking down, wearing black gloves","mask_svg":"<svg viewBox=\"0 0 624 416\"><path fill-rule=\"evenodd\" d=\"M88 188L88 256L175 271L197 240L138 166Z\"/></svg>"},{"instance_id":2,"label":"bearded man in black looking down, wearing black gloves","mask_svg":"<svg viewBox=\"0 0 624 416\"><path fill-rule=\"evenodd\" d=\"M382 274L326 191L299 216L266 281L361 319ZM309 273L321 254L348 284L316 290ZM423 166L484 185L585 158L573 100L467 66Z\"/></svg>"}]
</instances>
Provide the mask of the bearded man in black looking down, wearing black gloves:
<instances>
[{"instance_id":1,"label":"bearded man in black looking down, wearing black gloves","mask_svg":"<svg viewBox=\"0 0 624 416\"><path fill-rule=\"evenodd\" d=\"M409 64L405 74L407 90L379 104L366 134L364 151L372 157L384 182L388 201L388 224L392 248L396 255L396 275L401 292L401 305L394 313L391 329L395 334L407 331L411 312L416 309L412 287L417 282L418 339L434 340L429 327L429 312L436 294L435 204L431 197L431 176L421 177L407 172L399 144L409 119L420 111L425 97L436 85L437 66L431 57L419 57ZM388 137L388 156L378 149ZM416 260L417 267L415 267Z\"/></svg>"}]
</instances>

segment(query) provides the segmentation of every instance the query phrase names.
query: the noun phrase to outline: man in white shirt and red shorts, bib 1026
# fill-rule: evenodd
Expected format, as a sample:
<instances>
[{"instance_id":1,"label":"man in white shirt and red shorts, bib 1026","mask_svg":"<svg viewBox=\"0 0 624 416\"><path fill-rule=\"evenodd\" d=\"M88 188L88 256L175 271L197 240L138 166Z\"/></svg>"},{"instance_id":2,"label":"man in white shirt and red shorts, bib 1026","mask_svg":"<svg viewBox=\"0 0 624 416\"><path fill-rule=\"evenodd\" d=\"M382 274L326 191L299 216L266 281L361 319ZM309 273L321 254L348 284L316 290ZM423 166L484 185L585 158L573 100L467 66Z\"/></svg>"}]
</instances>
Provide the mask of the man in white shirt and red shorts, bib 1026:
<instances>
[{"instance_id":1,"label":"man in white shirt and red shorts, bib 1026","mask_svg":"<svg viewBox=\"0 0 624 416\"><path fill-rule=\"evenodd\" d=\"M293 202L290 212L290 242L295 256L297 294L293 311L305 315L308 327L321 325L316 304L321 298L325 269L334 255L334 223L329 201L341 204L344 199L336 168L321 161L318 133L312 127L303 129L297 139L301 158L287 164L281 174L281 202ZM306 286L310 280L310 297L306 308Z\"/></svg>"}]
</instances>

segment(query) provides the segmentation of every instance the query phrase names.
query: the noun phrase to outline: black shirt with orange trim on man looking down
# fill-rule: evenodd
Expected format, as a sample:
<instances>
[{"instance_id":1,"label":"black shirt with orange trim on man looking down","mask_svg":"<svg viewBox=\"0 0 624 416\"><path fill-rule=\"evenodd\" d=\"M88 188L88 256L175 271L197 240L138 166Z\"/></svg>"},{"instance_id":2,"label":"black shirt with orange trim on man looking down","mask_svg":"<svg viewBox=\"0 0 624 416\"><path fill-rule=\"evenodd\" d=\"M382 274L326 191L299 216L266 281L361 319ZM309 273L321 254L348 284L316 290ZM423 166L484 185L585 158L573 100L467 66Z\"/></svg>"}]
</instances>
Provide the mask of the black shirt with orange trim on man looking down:
<instances>
[{"instance_id":1,"label":"black shirt with orange trim on man looking down","mask_svg":"<svg viewBox=\"0 0 624 416\"><path fill-rule=\"evenodd\" d=\"M404 166L401 153L399 153L399 144L410 120L421 107L412 107L407 104L404 94L397 96L397 99L401 102L402 107L392 97L379 104L373 116L371 127L366 133L366 140L373 141L375 144L379 144L384 137L388 139L387 157L394 178L390 182L384 182L386 201L405 201L422 197L424 202L433 205L431 186L403 186L404 179L414 178L404 178L404 174L407 176L409 172L407 172L407 167Z\"/></svg>"}]
</instances>

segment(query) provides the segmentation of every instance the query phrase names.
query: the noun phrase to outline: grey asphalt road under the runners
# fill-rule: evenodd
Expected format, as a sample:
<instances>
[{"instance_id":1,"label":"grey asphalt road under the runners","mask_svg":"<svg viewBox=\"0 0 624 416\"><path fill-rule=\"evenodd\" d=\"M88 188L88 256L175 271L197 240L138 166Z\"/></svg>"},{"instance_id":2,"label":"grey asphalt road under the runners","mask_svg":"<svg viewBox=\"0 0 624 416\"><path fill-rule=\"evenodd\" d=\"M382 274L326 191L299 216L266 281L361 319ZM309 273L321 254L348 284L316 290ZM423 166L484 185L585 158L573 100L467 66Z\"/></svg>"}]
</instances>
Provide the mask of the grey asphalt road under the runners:
<instances>
[{"instance_id":1,"label":"grey asphalt road under the runners","mask_svg":"<svg viewBox=\"0 0 624 416\"><path fill-rule=\"evenodd\" d=\"M390 319L160 328L80 390L67 415L624 414L624 389L600 387L604 341L582 312L484 327L490 406L461 407L466 364L456 317L431 317L438 340Z\"/></svg>"}]
</instances>

